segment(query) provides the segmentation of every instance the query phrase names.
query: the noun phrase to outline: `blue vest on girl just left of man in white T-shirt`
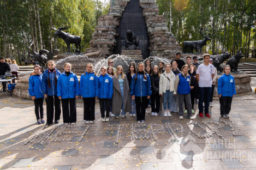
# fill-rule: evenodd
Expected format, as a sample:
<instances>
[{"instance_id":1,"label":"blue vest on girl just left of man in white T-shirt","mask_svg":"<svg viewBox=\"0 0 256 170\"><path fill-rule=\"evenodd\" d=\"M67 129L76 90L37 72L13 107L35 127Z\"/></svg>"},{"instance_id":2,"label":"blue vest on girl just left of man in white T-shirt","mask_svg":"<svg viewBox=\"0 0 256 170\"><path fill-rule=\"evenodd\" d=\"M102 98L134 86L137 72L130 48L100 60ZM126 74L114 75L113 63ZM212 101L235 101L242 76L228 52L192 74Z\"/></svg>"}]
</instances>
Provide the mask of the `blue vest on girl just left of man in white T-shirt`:
<instances>
[{"instance_id":1,"label":"blue vest on girl just left of man in white T-shirt","mask_svg":"<svg viewBox=\"0 0 256 170\"><path fill-rule=\"evenodd\" d=\"M178 94L189 94L190 90L191 90L189 74L184 76L183 72L181 72L180 74L178 74L178 76L176 78L179 79L177 93Z\"/></svg>"}]
</instances>

